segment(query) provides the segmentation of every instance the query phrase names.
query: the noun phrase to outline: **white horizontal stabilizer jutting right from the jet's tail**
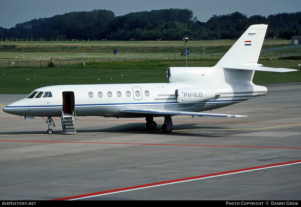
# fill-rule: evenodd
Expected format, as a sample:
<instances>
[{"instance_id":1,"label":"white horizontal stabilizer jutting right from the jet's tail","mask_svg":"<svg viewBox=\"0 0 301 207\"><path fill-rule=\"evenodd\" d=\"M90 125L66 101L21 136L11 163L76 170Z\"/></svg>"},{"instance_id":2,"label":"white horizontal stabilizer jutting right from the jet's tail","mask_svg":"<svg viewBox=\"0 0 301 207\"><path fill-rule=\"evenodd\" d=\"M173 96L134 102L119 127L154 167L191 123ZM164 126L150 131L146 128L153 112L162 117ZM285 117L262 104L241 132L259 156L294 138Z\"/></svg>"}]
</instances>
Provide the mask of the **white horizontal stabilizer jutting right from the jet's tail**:
<instances>
[{"instance_id":1,"label":"white horizontal stabilizer jutting right from the jet's tail","mask_svg":"<svg viewBox=\"0 0 301 207\"><path fill-rule=\"evenodd\" d=\"M263 67L259 64L257 65L225 65L224 68L227 69L235 69L235 70L256 70L256 71L266 71L266 72L292 72L297 71L294 69L288 69L288 68L269 68L269 67Z\"/></svg>"}]
</instances>

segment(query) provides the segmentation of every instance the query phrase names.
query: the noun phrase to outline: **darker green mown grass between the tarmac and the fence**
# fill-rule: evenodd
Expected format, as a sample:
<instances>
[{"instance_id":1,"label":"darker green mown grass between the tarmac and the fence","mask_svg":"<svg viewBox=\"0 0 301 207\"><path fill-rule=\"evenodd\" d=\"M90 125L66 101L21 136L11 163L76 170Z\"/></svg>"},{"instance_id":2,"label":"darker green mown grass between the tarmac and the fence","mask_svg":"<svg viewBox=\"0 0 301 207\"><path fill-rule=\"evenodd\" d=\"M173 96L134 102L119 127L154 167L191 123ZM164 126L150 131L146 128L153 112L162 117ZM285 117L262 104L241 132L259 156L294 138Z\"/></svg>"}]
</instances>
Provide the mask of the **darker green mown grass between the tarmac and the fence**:
<instances>
[{"instance_id":1,"label":"darker green mown grass between the tarmac and the fence","mask_svg":"<svg viewBox=\"0 0 301 207\"><path fill-rule=\"evenodd\" d=\"M297 68L297 60L261 60L269 67ZM213 66L215 60L188 62L189 66ZM183 61L144 60L88 62L85 66L73 65L54 68L0 68L0 94L29 93L49 85L63 84L119 84L167 82L168 67L184 66ZM4 75L5 74L5 75ZM113 80L111 80L111 78ZM255 84L301 81L301 72L271 73L255 72Z\"/></svg>"}]
</instances>

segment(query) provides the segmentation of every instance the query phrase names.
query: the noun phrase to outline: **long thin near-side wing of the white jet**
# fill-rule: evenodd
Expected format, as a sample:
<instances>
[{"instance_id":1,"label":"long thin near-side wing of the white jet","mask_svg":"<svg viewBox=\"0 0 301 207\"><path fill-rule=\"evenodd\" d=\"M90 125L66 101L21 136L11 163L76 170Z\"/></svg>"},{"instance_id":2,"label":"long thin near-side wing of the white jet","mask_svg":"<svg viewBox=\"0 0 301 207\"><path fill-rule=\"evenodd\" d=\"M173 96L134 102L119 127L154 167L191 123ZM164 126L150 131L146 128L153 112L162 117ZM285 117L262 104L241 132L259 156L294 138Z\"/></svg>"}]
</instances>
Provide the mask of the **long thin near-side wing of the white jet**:
<instances>
[{"instance_id":1,"label":"long thin near-side wing of the white jet","mask_svg":"<svg viewBox=\"0 0 301 207\"><path fill-rule=\"evenodd\" d=\"M188 116L199 116L199 117L247 117L244 115L233 115L233 114L213 114L213 113L203 113L194 111L172 111L172 110L155 110L146 108L122 108L119 109L120 113L127 114L145 114L154 116L164 116L164 115L188 115Z\"/></svg>"}]
</instances>

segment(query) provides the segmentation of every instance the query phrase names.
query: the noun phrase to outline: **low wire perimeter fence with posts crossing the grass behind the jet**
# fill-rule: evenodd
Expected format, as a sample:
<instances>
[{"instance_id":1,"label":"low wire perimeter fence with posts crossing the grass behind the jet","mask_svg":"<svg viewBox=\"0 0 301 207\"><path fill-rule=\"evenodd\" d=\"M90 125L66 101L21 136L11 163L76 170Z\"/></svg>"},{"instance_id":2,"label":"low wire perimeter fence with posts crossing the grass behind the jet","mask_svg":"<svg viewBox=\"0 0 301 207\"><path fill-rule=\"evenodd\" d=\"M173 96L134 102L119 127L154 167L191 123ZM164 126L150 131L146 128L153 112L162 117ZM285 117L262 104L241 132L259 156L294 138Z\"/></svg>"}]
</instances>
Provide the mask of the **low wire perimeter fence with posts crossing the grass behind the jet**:
<instances>
[{"instance_id":1,"label":"low wire perimeter fence with posts crossing the grass behind the jet","mask_svg":"<svg viewBox=\"0 0 301 207\"><path fill-rule=\"evenodd\" d=\"M200 53L191 54L187 56L189 59L220 59L225 53ZM295 56L297 54L264 54L260 58L279 58L283 56ZM299 54L298 54L299 56ZM55 67L69 66L69 65L84 65L86 62L107 62L107 61L130 61L130 60L178 60L185 61L185 55L153 55L153 56L132 56L132 57L102 57L102 58L41 58L41 59L16 59L16 60L0 60L0 68L14 68L14 67L32 67L32 68L45 68L53 62Z\"/></svg>"}]
</instances>

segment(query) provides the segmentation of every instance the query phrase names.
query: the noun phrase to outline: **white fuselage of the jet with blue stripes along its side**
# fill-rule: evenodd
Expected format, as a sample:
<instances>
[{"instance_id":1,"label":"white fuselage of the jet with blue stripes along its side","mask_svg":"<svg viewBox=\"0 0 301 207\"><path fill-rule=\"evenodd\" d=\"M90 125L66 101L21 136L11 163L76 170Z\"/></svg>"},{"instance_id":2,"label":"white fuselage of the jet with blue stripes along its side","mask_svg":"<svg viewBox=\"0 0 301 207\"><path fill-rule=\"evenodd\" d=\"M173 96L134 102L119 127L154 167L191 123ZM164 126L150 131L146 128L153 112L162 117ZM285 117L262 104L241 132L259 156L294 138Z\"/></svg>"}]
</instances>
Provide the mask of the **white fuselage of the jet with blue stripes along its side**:
<instances>
[{"instance_id":1,"label":"white fuselage of the jet with blue stripes along its side","mask_svg":"<svg viewBox=\"0 0 301 207\"><path fill-rule=\"evenodd\" d=\"M63 92L74 93L74 111L76 116L102 117L145 117L144 114L120 113L122 108L145 108L174 111L207 111L232 105L255 96L266 94L266 88L255 85L236 85L228 83L209 86L183 85L176 83L152 84L93 84L93 85L58 85L36 89L39 98L24 98L4 108L10 114L20 116L61 117L63 109ZM218 95L199 103L179 103L175 99L175 90L187 88L184 95L187 98L203 96L197 88L211 88ZM247 91L247 88L252 90ZM189 90L194 88L194 90ZM222 88L222 90L221 90ZM237 90L236 90L237 88ZM43 97L45 92L51 92L52 97ZM66 101L66 100L64 100ZM72 103L71 103L72 104ZM156 115L154 115L155 117ZM161 116L161 115L158 115Z\"/></svg>"}]
</instances>

